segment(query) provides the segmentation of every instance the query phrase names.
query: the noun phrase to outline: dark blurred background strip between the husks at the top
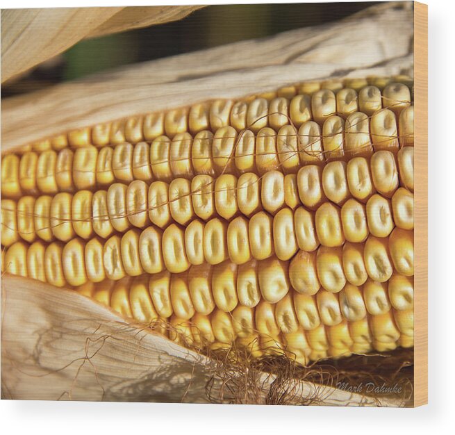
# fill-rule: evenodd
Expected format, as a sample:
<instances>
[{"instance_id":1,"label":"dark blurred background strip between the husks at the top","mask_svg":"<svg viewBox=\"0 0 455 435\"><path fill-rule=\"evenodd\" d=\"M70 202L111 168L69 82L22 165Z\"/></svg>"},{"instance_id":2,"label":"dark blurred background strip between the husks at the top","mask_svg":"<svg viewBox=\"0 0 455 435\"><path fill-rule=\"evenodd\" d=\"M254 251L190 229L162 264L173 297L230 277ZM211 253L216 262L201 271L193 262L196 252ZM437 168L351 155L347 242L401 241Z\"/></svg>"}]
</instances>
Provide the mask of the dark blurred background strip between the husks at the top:
<instances>
[{"instance_id":1,"label":"dark blurred background strip between the husks at the top","mask_svg":"<svg viewBox=\"0 0 455 435\"><path fill-rule=\"evenodd\" d=\"M380 2L208 6L177 22L78 42L19 79L2 85L1 97L39 90L120 65L332 22L376 3Z\"/></svg>"}]
</instances>

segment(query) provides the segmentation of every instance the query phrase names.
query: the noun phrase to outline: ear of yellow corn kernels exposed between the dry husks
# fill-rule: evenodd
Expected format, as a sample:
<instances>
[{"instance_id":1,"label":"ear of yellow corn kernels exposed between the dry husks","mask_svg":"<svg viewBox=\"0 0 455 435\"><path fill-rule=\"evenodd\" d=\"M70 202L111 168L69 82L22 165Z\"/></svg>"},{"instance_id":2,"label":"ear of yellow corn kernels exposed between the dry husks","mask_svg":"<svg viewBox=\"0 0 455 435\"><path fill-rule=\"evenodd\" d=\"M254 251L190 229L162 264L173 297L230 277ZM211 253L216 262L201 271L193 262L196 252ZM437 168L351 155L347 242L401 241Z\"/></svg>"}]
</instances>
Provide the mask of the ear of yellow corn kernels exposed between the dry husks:
<instances>
[{"instance_id":1,"label":"ear of yellow corn kernels exposed between the dry husks","mask_svg":"<svg viewBox=\"0 0 455 435\"><path fill-rule=\"evenodd\" d=\"M3 156L2 272L169 322L199 348L307 364L412 347L401 79L301 83Z\"/></svg>"}]
</instances>

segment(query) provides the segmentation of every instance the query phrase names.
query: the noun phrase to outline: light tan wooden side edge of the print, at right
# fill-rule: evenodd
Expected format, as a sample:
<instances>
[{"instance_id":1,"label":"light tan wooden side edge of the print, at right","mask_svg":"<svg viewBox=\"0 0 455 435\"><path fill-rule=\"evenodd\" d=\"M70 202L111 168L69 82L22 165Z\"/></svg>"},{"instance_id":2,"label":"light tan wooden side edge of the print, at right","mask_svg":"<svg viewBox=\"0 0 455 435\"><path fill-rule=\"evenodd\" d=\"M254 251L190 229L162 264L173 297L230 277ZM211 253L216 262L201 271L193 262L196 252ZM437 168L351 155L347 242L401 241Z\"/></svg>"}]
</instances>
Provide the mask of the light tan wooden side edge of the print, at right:
<instances>
[{"instance_id":1,"label":"light tan wooden side edge of the print, at right","mask_svg":"<svg viewBox=\"0 0 455 435\"><path fill-rule=\"evenodd\" d=\"M414 2L414 406L428 402L428 6Z\"/></svg>"}]
</instances>

